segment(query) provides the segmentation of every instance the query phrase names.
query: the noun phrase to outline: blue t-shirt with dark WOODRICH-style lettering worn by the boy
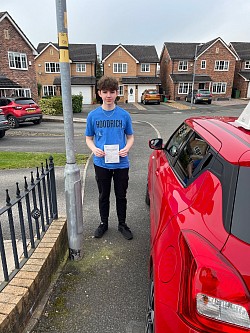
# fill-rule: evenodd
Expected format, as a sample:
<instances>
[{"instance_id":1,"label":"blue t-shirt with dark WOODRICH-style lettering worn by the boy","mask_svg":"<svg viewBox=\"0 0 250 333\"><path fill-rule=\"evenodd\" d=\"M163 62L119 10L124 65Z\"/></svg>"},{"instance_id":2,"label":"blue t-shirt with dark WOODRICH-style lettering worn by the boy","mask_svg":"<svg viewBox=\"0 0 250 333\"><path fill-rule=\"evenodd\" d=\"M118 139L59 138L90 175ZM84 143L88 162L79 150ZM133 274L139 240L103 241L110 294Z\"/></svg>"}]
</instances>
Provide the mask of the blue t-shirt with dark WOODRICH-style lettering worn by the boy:
<instances>
[{"instance_id":1,"label":"blue t-shirt with dark WOODRICH-style lettering worn by the boy","mask_svg":"<svg viewBox=\"0 0 250 333\"><path fill-rule=\"evenodd\" d=\"M101 106L91 111L87 117L86 136L93 136L97 148L104 150L104 145L119 145L119 150L126 146L126 135L134 133L130 114L119 106L112 111L105 111ZM129 157L119 158L119 163L105 163L104 157L94 155L94 164L106 169L129 168Z\"/></svg>"}]
</instances>

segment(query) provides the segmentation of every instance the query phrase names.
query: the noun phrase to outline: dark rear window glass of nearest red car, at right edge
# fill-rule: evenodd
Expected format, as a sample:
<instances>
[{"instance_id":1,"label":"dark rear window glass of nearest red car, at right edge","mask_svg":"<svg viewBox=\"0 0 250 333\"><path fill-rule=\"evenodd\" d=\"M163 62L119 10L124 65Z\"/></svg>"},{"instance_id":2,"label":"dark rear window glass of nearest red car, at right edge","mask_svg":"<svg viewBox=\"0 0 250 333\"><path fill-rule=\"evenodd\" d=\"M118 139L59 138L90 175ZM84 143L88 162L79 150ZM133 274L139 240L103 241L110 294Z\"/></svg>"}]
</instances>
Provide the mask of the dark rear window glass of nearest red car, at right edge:
<instances>
[{"instance_id":1,"label":"dark rear window glass of nearest red car, at right edge","mask_svg":"<svg viewBox=\"0 0 250 333\"><path fill-rule=\"evenodd\" d=\"M250 168L240 167L233 210L231 232L237 238L250 244Z\"/></svg>"}]
</instances>

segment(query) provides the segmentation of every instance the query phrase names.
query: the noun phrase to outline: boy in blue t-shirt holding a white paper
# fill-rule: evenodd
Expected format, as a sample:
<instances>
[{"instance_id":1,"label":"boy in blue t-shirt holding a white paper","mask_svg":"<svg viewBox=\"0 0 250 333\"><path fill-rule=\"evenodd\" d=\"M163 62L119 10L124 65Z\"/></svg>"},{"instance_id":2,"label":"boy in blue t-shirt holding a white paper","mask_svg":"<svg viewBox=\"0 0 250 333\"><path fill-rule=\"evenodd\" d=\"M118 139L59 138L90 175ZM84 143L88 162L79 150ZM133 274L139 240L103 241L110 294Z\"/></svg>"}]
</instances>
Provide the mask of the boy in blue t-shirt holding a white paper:
<instances>
[{"instance_id":1,"label":"boy in blue t-shirt holding a white paper","mask_svg":"<svg viewBox=\"0 0 250 333\"><path fill-rule=\"evenodd\" d=\"M95 176L99 191L101 223L95 237L108 230L110 190L113 178L118 230L130 240L133 234L126 224L127 188L129 180L128 152L134 143L132 120L127 111L115 104L118 81L103 76L98 82L102 105L87 117L86 144L94 154Z\"/></svg>"}]
</instances>

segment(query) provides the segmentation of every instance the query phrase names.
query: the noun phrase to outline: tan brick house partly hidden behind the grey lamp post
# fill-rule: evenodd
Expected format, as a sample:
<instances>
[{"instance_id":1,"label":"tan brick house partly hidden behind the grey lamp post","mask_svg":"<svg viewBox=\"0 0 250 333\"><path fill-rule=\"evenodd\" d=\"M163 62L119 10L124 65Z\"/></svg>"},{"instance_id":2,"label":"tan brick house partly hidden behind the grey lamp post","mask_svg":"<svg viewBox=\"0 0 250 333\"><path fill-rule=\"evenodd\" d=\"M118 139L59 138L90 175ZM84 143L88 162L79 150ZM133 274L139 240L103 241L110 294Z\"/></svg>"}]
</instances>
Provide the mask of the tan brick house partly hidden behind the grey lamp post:
<instances>
[{"instance_id":1,"label":"tan brick house partly hidden behind the grey lamp post","mask_svg":"<svg viewBox=\"0 0 250 333\"><path fill-rule=\"evenodd\" d=\"M37 82L42 96L61 95L59 47L56 43L40 43L37 47ZM96 95L95 44L69 44L71 93L81 94L83 104L92 104Z\"/></svg>"}]
</instances>

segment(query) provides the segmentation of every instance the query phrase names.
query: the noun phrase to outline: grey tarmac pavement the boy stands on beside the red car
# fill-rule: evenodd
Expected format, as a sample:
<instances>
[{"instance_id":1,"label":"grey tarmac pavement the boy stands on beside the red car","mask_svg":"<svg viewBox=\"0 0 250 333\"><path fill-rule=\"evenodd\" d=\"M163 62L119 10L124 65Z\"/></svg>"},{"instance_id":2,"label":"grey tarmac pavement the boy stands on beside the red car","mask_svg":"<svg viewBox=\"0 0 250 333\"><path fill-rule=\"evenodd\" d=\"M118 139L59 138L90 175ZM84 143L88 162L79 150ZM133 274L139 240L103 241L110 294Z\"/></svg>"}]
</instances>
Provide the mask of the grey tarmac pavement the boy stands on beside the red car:
<instances>
[{"instance_id":1,"label":"grey tarmac pavement the boy stands on beside the red car","mask_svg":"<svg viewBox=\"0 0 250 333\"><path fill-rule=\"evenodd\" d=\"M149 209L145 204L149 149L144 139L155 130L146 123L134 124L136 142L128 191L127 223L134 239L125 240L117 230L114 194L111 197L109 230L93 238L99 224L98 194L90 161L85 180L84 256L68 261L57 280L33 333L142 333L147 299Z\"/></svg>"}]
</instances>

